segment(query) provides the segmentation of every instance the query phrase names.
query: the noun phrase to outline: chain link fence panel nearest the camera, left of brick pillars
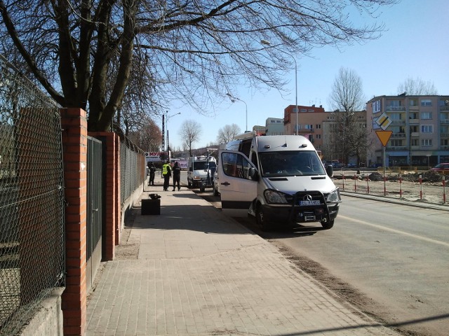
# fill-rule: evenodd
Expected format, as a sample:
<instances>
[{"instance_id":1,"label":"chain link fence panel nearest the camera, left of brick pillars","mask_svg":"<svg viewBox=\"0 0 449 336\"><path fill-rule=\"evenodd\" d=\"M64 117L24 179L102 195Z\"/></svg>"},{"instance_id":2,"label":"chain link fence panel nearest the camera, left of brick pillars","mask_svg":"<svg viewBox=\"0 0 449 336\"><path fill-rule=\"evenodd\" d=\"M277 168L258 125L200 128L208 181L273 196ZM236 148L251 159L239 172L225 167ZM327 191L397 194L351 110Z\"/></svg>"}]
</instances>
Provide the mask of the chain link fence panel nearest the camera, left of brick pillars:
<instances>
[{"instance_id":1,"label":"chain link fence panel nearest the camera, left of brick pillars","mask_svg":"<svg viewBox=\"0 0 449 336\"><path fill-rule=\"evenodd\" d=\"M59 106L0 55L0 335L65 283Z\"/></svg>"}]
</instances>

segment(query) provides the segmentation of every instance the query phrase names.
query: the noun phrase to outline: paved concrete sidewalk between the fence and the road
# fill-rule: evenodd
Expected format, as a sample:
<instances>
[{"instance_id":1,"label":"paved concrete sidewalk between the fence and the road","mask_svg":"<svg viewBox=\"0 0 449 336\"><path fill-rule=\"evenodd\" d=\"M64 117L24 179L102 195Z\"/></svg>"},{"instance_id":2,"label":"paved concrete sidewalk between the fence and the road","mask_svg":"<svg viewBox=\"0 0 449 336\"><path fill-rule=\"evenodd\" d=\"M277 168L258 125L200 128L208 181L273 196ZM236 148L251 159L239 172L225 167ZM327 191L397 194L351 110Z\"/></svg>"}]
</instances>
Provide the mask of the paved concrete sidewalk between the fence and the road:
<instances>
[{"instance_id":1,"label":"paved concrete sidewalk between the fence and the road","mask_svg":"<svg viewBox=\"0 0 449 336\"><path fill-rule=\"evenodd\" d=\"M191 190L161 182L142 194L161 195L161 214L138 209L130 230L137 257L98 273L88 335L398 335Z\"/></svg>"}]
</instances>

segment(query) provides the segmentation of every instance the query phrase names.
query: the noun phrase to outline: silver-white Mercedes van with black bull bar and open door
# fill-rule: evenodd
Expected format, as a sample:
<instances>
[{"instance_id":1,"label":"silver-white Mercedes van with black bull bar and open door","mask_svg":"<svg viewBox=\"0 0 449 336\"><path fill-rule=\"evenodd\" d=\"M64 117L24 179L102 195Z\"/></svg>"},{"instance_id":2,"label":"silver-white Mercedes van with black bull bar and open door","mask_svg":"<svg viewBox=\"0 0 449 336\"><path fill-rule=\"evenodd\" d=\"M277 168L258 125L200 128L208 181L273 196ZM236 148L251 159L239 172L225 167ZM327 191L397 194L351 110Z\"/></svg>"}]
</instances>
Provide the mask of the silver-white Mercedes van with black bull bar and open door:
<instances>
[{"instance_id":1,"label":"silver-white Mercedes van with black bull bar and open door","mask_svg":"<svg viewBox=\"0 0 449 336\"><path fill-rule=\"evenodd\" d=\"M220 146L222 211L255 216L262 230L293 223L333 227L340 190L314 146L298 135L257 137L252 132Z\"/></svg>"}]
</instances>

